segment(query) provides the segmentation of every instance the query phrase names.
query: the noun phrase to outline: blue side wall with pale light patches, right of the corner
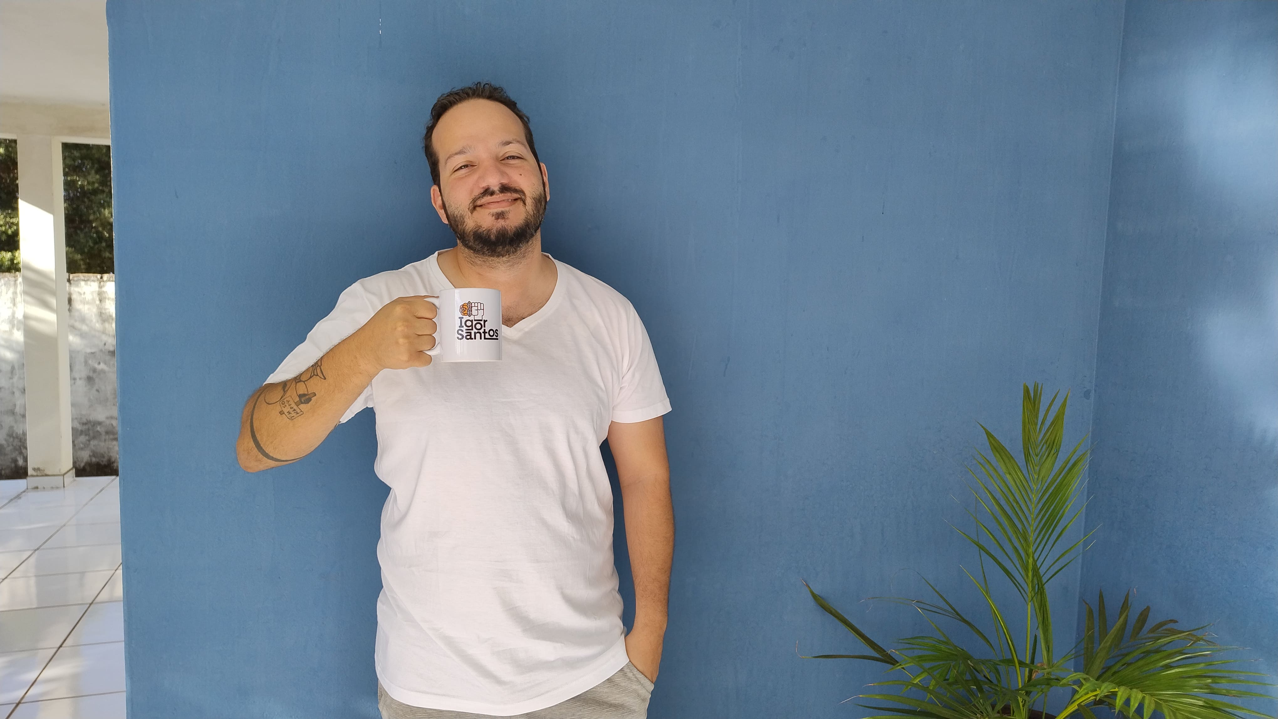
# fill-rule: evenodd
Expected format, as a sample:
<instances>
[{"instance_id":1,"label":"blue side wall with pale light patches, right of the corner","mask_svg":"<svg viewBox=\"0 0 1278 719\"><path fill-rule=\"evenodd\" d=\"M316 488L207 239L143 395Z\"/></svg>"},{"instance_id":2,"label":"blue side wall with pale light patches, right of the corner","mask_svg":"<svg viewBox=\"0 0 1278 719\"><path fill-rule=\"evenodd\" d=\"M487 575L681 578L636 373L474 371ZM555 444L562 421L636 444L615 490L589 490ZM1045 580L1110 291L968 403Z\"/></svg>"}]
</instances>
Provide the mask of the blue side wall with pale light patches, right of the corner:
<instances>
[{"instance_id":1,"label":"blue side wall with pale light patches, right of the corner","mask_svg":"<svg viewBox=\"0 0 1278 719\"><path fill-rule=\"evenodd\" d=\"M1128 0L1114 133L1084 596L1273 677L1278 4Z\"/></svg>"}]
</instances>

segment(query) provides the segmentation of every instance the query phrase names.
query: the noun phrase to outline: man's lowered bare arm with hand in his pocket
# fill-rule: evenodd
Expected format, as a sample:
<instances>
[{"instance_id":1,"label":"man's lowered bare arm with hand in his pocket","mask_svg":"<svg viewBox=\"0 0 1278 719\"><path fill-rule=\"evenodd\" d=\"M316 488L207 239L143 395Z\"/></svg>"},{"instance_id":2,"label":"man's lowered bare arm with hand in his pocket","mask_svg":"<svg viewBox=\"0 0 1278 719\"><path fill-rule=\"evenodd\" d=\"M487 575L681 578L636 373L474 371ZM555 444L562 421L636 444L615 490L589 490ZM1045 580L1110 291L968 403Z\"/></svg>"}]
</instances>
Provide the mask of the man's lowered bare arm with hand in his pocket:
<instances>
[{"instance_id":1,"label":"man's lowered bare arm with hand in his pocket","mask_svg":"<svg viewBox=\"0 0 1278 719\"><path fill-rule=\"evenodd\" d=\"M630 662L657 678L666 636L670 566L675 556L675 510L670 499L670 461L662 419L608 427L617 462L626 522L630 571L635 581L635 626L626 636Z\"/></svg>"}]
</instances>

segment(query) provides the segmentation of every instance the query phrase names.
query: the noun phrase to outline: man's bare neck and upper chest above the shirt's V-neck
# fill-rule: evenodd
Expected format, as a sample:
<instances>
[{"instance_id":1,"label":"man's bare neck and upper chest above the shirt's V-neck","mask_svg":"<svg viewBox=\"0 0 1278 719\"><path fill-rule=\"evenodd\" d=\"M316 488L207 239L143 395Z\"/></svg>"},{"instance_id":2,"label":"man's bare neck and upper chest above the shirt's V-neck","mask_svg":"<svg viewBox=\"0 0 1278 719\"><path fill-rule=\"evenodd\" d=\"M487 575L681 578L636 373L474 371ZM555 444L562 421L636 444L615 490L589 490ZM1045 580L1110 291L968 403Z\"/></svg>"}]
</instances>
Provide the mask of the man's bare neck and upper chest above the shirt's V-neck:
<instances>
[{"instance_id":1,"label":"man's bare neck and upper chest above the shirt's V-neck","mask_svg":"<svg viewBox=\"0 0 1278 719\"><path fill-rule=\"evenodd\" d=\"M441 252L438 259L440 269L454 287L500 290L502 324L507 327L546 304L558 275L555 262L542 254L539 231L510 257L483 257L459 244Z\"/></svg>"}]
</instances>

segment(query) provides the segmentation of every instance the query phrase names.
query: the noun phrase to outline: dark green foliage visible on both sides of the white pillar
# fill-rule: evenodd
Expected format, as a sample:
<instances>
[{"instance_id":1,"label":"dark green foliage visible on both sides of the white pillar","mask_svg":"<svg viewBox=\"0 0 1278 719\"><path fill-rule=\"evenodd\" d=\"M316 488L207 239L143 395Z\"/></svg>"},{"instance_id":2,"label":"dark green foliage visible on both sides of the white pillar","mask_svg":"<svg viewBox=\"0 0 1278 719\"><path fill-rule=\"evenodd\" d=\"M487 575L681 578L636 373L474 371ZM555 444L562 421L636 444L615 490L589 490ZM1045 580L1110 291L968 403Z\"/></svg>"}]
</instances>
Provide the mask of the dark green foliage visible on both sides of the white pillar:
<instances>
[{"instance_id":1,"label":"dark green foliage visible on both sides of the white pillar","mask_svg":"<svg viewBox=\"0 0 1278 719\"><path fill-rule=\"evenodd\" d=\"M111 147L63 144L66 272L115 272ZM0 272L22 271L18 252L18 142L0 139Z\"/></svg>"}]
</instances>

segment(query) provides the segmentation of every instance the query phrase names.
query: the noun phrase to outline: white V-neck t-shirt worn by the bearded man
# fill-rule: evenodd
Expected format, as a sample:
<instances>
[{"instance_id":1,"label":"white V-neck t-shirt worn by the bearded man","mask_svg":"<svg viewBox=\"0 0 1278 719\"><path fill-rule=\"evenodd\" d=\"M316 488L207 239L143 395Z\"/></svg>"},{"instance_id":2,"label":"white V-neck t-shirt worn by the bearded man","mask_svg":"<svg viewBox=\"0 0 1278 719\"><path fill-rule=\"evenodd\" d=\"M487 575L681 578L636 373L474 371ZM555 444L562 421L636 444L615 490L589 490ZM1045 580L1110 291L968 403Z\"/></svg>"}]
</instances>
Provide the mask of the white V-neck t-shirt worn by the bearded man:
<instances>
[{"instance_id":1,"label":"white V-neck t-shirt worn by the bearded man","mask_svg":"<svg viewBox=\"0 0 1278 719\"><path fill-rule=\"evenodd\" d=\"M436 258L348 287L267 382L395 298L451 287ZM502 327L501 361L382 370L341 418L377 414L377 677L404 704L510 716L626 664L599 444L670 400L630 303L555 264L546 305Z\"/></svg>"}]
</instances>

